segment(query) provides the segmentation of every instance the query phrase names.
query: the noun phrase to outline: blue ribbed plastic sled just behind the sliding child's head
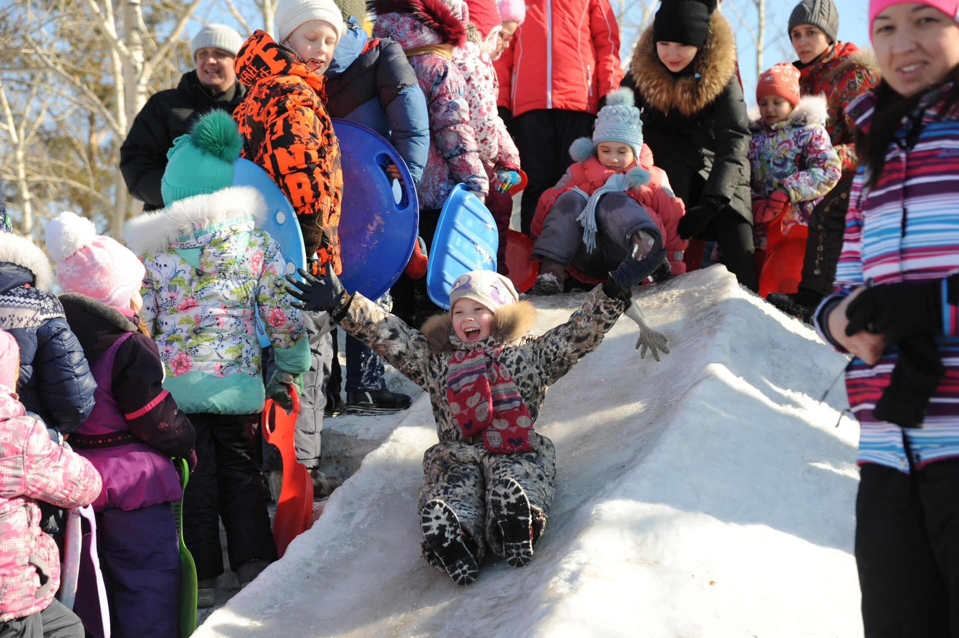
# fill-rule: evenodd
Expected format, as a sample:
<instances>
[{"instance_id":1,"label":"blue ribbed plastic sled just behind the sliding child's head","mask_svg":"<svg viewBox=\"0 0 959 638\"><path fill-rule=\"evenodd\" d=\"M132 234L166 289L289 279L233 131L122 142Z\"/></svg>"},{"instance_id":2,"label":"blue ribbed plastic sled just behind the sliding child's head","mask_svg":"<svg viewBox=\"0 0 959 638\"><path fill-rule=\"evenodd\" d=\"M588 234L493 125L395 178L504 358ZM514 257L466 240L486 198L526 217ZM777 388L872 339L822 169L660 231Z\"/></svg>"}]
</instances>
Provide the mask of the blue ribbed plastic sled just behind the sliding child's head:
<instances>
[{"instance_id":1,"label":"blue ribbed plastic sled just behind the sliding child's head","mask_svg":"<svg viewBox=\"0 0 959 638\"><path fill-rule=\"evenodd\" d=\"M450 309L450 291L460 274L495 271L500 236L493 214L463 184L443 204L430 248L426 290L433 303Z\"/></svg>"}]
</instances>

